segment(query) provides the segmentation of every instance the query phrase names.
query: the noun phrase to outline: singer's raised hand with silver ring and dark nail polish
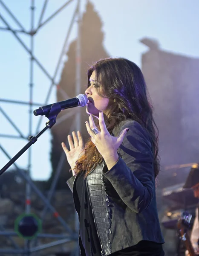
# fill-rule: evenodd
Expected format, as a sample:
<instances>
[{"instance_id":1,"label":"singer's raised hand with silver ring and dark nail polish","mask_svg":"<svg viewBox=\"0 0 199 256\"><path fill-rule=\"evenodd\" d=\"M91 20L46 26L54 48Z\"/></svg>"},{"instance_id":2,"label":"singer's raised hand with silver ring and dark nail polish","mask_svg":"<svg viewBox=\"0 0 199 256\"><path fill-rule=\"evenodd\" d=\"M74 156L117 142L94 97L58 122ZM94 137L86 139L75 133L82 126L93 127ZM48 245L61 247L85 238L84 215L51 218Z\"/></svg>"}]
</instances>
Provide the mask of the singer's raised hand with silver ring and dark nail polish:
<instances>
[{"instance_id":1,"label":"singer's raised hand with silver ring and dark nail polish","mask_svg":"<svg viewBox=\"0 0 199 256\"><path fill-rule=\"evenodd\" d=\"M97 128L92 115L89 116L89 122L85 121L85 123L87 131L91 136L92 143L95 144L96 148L104 158L105 162L107 163L107 161L113 160L115 158L118 159L117 150L121 145L122 141L124 140L124 136L127 134L127 131L129 131L129 129L126 128L121 131L118 137L111 136L105 125L104 114L102 111L99 113L99 126L101 131L99 131L98 134L94 134L94 132L92 131L92 129Z\"/></svg>"}]
</instances>

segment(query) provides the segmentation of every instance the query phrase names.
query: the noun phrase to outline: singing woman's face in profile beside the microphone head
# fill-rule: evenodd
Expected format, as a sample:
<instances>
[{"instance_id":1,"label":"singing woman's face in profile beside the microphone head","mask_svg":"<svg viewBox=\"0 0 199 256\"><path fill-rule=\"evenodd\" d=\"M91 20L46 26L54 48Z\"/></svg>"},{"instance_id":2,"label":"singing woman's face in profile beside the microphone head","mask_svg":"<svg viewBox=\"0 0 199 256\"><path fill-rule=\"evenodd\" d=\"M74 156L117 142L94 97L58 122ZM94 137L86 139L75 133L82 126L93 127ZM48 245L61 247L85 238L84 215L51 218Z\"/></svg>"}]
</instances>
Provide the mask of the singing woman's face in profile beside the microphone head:
<instances>
[{"instance_id":1,"label":"singing woman's face in profile beside the microphone head","mask_svg":"<svg viewBox=\"0 0 199 256\"><path fill-rule=\"evenodd\" d=\"M96 88L99 90L101 85L95 81L95 71L92 72L89 81L89 87L85 90L88 97L87 113L99 116L99 111L102 111L106 114L109 109L109 99L98 95Z\"/></svg>"}]
</instances>

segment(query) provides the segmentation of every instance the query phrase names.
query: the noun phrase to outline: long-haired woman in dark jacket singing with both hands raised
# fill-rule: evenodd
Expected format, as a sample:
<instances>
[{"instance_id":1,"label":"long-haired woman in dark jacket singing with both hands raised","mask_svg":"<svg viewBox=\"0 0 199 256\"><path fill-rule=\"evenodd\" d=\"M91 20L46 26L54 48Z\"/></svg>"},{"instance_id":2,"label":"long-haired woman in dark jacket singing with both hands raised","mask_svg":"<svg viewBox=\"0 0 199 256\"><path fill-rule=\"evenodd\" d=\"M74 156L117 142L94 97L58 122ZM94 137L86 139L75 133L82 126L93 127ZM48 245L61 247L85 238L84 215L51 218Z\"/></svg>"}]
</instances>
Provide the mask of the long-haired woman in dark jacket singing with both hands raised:
<instances>
[{"instance_id":1,"label":"long-haired woman in dark jacket singing with both hands raised","mask_svg":"<svg viewBox=\"0 0 199 256\"><path fill-rule=\"evenodd\" d=\"M62 143L73 176L67 181L79 216L81 256L164 256L155 179L158 136L140 68L125 58L88 70L85 121Z\"/></svg>"}]
</instances>

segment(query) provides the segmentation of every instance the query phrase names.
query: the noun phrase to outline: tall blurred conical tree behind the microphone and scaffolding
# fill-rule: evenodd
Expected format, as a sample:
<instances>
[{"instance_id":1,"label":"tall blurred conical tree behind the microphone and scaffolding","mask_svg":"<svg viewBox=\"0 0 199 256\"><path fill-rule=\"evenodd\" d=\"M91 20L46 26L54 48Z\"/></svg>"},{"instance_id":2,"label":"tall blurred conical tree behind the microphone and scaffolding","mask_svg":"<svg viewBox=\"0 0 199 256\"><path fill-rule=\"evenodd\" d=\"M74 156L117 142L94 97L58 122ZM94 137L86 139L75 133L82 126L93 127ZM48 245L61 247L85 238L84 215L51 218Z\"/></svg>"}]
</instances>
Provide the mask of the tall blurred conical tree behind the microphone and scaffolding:
<instances>
[{"instance_id":1,"label":"tall blurred conical tree behind the microphone and scaffolding","mask_svg":"<svg viewBox=\"0 0 199 256\"><path fill-rule=\"evenodd\" d=\"M104 33L102 32L102 21L97 12L94 10L92 3L88 2L86 12L82 18L81 25L81 93L85 93L87 88L87 70L89 66L99 60L100 58L107 58L108 53L103 46ZM66 92L69 98L75 97L75 72L76 72L76 43L73 41L67 52L67 61L64 64L61 81L59 83L59 90L57 90L57 100L63 99L62 92ZM73 109L77 110L77 108ZM69 110L66 110L69 111ZM61 119L66 111L62 111L58 119ZM77 110L78 111L78 110ZM84 142L88 139L88 134L84 121L88 119L86 109L81 108L81 133L83 134ZM74 115L67 118L58 125L52 128L52 151L51 151L51 162L52 162L52 175L48 181L47 188L50 186L52 179L55 175L55 171L58 166L59 159L62 153L61 142L67 140L67 135L71 132L72 124L74 124ZM75 126L72 131L76 131ZM71 176L69 173L69 164L66 160L63 163L61 175L58 180L57 189L66 189L68 186L66 180Z\"/></svg>"}]
</instances>

